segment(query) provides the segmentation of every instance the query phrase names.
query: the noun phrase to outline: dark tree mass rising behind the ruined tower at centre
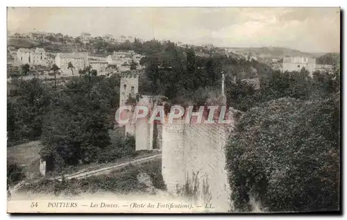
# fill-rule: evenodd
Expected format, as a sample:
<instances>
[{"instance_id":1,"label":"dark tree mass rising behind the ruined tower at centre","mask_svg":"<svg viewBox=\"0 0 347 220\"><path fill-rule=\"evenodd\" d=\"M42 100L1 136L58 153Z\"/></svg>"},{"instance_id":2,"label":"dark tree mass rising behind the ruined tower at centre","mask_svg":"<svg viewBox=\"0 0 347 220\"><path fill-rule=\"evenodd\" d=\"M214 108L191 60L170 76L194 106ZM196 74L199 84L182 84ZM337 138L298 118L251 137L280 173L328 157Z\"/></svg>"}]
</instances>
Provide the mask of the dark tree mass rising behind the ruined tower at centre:
<instances>
[{"instance_id":1,"label":"dark tree mass rising behind the ruined tower at centre","mask_svg":"<svg viewBox=\"0 0 347 220\"><path fill-rule=\"evenodd\" d=\"M172 102L178 97L205 87L221 90L221 73L237 78L266 78L271 68L256 60L226 56L209 51L207 56L197 56L196 48L176 46L173 42L145 42L142 47L146 57L140 60L146 74L142 78L142 93L162 94Z\"/></svg>"}]
</instances>

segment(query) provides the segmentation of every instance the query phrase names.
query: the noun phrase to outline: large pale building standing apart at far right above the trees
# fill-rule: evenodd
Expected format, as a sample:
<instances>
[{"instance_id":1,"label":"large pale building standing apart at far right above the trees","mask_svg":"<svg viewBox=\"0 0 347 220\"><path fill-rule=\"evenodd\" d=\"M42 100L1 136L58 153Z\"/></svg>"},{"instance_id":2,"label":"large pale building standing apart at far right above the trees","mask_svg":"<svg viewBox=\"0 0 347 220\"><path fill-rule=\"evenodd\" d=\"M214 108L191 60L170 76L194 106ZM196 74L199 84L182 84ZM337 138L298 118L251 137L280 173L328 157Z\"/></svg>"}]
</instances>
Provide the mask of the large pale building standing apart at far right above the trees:
<instances>
[{"instance_id":1,"label":"large pale building standing apart at far right above the trees","mask_svg":"<svg viewBox=\"0 0 347 220\"><path fill-rule=\"evenodd\" d=\"M301 71L305 68L312 76L316 68L316 59L308 57L286 57L283 58L282 71Z\"/></svg>"}]
</instances>

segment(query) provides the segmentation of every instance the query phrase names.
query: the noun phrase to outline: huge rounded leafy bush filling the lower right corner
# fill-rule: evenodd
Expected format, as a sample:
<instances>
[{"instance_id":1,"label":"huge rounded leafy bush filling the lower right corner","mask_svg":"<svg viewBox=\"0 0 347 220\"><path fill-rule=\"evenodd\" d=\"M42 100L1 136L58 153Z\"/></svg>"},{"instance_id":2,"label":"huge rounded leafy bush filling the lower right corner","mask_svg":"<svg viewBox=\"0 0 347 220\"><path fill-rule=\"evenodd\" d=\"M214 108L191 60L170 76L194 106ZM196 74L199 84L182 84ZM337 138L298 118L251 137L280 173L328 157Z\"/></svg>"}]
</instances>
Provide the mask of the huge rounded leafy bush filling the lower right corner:
<instances>
[{"instance_id":1,"label":"huge rounded leafy bush filling the lower right corner","mask_svg":"<svg viewBox=\"0 0 347 220\"><path fill-rule=\"evenodd\" d=\"M278 99L244 115L227 147L232 201L271 212L339 210L339 98Z\"/></svg>"}]
</instances>

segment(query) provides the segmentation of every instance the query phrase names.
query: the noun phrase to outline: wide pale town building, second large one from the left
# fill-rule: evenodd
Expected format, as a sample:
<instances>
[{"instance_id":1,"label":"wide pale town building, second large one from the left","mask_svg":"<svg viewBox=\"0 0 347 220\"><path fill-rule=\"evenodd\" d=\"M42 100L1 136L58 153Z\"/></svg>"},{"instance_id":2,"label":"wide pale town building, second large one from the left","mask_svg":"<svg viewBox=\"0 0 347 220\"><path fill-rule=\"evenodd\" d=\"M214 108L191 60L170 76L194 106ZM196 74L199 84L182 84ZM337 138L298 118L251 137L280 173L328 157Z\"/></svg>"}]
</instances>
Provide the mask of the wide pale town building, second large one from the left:
<instances>
[{"instance_id":1,"label":"wide pale town building, second large one from the left","mask_svg":"<svg viewBox=\"0 0 347 220\"><path fill-rule=\"evenodd\" d=\"M56 56L56 65L60 71L66 75L71 75L72 71L69 69L69 62L74 66L74 72L78 73L79 70L84 69L88 65L87 53L58 53Z\"/></svg>"}]
</instances>

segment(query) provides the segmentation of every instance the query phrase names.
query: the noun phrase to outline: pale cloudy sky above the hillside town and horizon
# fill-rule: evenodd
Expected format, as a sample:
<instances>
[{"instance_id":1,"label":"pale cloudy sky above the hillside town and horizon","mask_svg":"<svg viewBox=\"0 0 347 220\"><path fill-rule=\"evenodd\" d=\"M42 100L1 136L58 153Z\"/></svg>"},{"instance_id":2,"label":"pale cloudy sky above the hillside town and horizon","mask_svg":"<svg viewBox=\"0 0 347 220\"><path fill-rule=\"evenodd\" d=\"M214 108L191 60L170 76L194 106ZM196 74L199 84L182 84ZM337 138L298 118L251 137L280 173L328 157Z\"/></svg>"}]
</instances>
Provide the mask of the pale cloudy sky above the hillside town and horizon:
<instances>
[{"instance_id":1,"label":"pale cloudy sky above the hillside town and horizon","mask_svg":"<svg viewBox=\"0 0 347 220\"><path fill-rule=\"evenodd\" d=\"M8 8L8 31L340 51L339 8Z\"/></svg>"}]
</instances>

